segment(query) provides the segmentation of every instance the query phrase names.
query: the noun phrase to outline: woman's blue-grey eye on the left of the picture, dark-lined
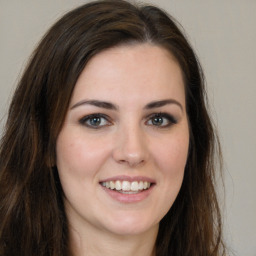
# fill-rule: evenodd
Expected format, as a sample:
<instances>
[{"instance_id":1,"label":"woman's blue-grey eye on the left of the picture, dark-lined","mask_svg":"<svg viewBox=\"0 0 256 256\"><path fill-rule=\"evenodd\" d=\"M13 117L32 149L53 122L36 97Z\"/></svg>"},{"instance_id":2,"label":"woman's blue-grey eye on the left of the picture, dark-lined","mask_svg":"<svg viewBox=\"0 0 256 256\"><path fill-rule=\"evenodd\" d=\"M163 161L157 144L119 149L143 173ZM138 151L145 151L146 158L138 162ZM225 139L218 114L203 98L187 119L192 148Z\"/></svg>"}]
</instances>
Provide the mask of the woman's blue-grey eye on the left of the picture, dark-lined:
<instances>
[{"instance_id":1,"label":"woman's blue-grey eye on the left of the picture, dark-lined","mask_svg":"<svg viewBox=\"0 0 256 256\"><path fill-rule=\"evenodd\" d=\"M108 117L103 114L92 114L85 116L79 120L79 123L92 129L99 129L101 127L111 125Z\"/></svg>"}]
</instances>

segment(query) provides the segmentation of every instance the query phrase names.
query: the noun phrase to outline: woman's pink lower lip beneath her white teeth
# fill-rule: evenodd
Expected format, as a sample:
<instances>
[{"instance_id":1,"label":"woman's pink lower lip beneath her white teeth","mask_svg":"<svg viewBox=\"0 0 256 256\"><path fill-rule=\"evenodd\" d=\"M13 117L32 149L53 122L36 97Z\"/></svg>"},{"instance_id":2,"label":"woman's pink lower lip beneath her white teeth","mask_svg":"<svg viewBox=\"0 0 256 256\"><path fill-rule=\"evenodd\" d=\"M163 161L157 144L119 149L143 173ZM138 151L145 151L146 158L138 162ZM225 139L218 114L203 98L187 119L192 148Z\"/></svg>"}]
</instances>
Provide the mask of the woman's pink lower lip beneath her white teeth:
<instances>
[{"instance_id":1,"label":"woman's pink lower lip beneath her white teeth","mask_svg":"<svg viewBox=\"0 0 256 256\"><path fill-rule=\"evenodd\" d=\"M116 201L119 201L121 203L136 203L146 199L152 192L154 185L151 185L151 187L147 190L142 190L135 194L122 194L116 190L108 189L103 186L102 188L111 198L113 198Z\"/></svg>"}]
</instances>

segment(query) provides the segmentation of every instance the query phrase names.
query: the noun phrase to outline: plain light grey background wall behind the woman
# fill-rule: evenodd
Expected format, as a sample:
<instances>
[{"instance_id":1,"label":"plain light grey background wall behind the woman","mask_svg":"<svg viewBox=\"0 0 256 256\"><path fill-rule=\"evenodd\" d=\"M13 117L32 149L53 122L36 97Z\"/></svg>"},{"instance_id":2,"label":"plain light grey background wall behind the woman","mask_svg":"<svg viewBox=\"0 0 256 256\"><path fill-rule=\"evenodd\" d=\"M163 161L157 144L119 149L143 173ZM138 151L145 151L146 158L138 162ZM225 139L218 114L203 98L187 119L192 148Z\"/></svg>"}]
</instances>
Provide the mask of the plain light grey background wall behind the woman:
<instances>
[{"instance_id":1,"label":"plain light grey background wall behind the woman","mask_svg":"<svg viewBox=\"0 0 256 256\"><path fill-rule=\"evenodd\" d=\"M86 2L0 0L0 131L33 48L57 18ZM183 25L201 60L225 160L227 245L256 256L256 0L151 3Z\"/></svg>"}]
</instances>

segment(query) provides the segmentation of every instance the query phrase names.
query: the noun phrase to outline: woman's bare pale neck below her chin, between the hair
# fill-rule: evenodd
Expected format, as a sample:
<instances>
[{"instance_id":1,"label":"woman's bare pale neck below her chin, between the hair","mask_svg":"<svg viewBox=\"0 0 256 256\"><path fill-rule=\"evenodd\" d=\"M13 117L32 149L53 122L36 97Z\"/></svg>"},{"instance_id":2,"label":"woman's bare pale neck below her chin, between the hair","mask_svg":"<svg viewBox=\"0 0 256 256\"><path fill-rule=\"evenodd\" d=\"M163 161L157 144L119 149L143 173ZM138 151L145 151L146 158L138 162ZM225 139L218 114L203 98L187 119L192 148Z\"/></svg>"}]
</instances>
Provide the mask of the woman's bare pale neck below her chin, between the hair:
<instances>
[{"instance_id":1,"label":"woman's bare pale neck below her chin, between the hair","mask_svg":"<svg viewBox=\"0 0 256 256\"><path fill-rule=\"evenodd\" d=\"M73 256L155 256L158 226L143 234L116 235L102 230L70 229Z\"/></svg>"}]
</instances>

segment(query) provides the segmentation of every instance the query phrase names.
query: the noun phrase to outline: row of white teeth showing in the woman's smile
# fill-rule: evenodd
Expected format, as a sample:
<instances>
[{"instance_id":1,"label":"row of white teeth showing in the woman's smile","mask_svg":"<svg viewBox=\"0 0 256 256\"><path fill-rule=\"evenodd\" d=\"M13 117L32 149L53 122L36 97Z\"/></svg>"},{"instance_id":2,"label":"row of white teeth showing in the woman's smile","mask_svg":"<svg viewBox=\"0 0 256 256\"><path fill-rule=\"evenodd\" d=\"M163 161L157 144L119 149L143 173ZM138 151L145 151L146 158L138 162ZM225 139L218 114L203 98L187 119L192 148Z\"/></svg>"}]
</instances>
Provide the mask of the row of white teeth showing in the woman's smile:
<instances>
[{"instance_id":1,"label":"row of white teeth showing in the woman's smile","mask_svg":"<svg viewBox=\"0 0 256 256\"><path fill-rule=\"evenodd\" d=\"M129 182L129 181L106 181L106 182L102 182L101 185L103 187L109 188L111 190L117 190L120 192L138 192L140 190L146 190L148 188L150 188L151 183L147 182L147 181L133 181L133 182Z\"/></svg>"}]
</instances>

